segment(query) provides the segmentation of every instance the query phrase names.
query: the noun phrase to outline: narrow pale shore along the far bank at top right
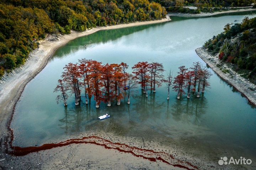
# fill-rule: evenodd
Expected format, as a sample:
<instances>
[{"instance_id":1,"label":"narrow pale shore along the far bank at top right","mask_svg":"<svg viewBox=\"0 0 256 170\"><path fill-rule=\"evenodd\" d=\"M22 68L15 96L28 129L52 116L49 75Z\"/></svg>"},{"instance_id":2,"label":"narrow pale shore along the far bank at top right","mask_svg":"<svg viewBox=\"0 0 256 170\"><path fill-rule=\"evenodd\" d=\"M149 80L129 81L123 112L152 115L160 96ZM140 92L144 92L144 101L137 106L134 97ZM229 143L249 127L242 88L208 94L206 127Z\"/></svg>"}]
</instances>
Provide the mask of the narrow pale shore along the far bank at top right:
<instances>
[{"instance_id":1,"label":"narrow pale shore along the far bank at top right","mask_svg":"<svg viewBox=\"0 0 256 170\"><path fill-rule=\"evenodd\" d=\"M245 9L238 9L238 10L229 10L229 11L219 11L219 12L201 12L198 14L193 14L193 13L168 13L167 16L180 16L180 17L207 17L207 16L214 16L214 15L219 15L219 14L224 14L224 13L233 13L233 12L247 12L247 11L256 11L256 8L245 8Z\"/></svg>"}]
</instances>

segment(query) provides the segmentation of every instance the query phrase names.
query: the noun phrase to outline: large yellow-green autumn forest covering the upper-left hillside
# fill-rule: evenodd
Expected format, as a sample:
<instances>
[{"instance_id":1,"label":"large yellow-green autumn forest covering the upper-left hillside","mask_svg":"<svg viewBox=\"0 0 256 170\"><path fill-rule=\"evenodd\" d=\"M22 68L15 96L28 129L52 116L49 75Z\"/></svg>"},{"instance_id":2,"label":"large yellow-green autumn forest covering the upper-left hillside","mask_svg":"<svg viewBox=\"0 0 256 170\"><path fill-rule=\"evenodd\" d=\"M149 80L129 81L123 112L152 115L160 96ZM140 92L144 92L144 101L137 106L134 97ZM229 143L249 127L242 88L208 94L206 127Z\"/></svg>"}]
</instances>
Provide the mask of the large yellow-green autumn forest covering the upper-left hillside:
<instances>
[{"instance_id":1,"label":"large yellow-green autumn forest covering the upper-left hillside","mask_svg":"<svg viewBox=\"0 0 256 170\"><path fill-rule=\"evenodd\" d=\"M50 34L70 34L165 17L166 10L148 0L0 0L0 78L25 63Z\"/></svg>"}]
</instances>

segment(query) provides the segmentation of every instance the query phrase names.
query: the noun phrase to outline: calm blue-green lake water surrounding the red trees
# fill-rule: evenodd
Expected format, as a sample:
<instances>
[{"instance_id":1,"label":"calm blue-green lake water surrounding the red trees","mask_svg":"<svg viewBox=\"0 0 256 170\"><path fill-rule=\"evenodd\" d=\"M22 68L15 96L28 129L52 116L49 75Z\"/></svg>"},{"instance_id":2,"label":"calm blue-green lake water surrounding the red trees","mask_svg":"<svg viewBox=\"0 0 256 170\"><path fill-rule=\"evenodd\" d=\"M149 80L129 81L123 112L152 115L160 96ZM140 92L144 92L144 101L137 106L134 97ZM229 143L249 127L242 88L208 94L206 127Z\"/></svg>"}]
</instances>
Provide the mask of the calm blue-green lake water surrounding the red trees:
<instances>
[{"instance_id":1,"label":"calm blue-green lake water surrounding the red trees","mask_svg":"<svg viewBox=\"0 0 256 170\"><path fill-rule=\"evenodd\" d=\"M68 107L64 108L62 103L55 102L57 94L53 93L65 64L81 58L104 64L125 62L130 66L128 72L139 61L160 62L165 70L171 69L176 75L181 65L204 63L194 50L222 32L226 23L241 22L245 16L251 18L256 14L171 17L169 23L105 30L70 41L55 52L42 72L25 87L11 124L13 145L42 145L94 129L122 136L166 136L185 148L193 142L197 144L192 147L198 149L203 146L251 158L256 152L255 107L212 70L210 88L201 98L192 96L190 100L185 95L176 100L176 92L171 91L167 101L163 85L148 98L138 88L130 105L125 98L121 106L115 102L111 107L101 103L96 109L93 98L90 106L83 97L81 105L75 106L74 98L70 97ZM97 117L105 113L111 118L98 121Z\"/></svg>"}]
</instances>

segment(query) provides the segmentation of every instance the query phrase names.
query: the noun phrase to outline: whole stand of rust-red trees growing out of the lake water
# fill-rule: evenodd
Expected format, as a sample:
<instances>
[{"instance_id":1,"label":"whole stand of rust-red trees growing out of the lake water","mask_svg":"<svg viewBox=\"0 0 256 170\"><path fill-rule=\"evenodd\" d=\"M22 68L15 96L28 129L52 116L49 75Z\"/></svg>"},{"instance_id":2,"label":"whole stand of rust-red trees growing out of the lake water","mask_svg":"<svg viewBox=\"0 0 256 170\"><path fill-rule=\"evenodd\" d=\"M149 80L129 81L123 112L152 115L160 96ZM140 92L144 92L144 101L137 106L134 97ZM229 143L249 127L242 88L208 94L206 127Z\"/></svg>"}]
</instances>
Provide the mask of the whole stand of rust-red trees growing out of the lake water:
<instances>
[{"instance_id":1,"label":"whole stand of rust-red trees growing out of the lake water","mask_svg":"<svg viewBox=\"0 0 256 170\"><path fill-rule=\"evenodd\" d=\"M102 64L95 60L81 59L75 64L68 63L64 67L62 79L58 80L54 89L54 92L58 92L57 103L63 101L64 106L67 106L66 100L74 95L75 105L79 105L81 94L84 94L86 104L94 96L96 108L100 107L101 102L111 106L111 102L116 101L120 105L126 95L127 103L130 104L130 96L138 85L145 97L148 97L148 90L156 92L156 88L163 83L167 87L167 100L170 98L171 86L177 92L177 99L186 93L187 98L190 98L191 93L200 97L201 92L204 93L205 88L210 85L208 80L212 75L200 62L193 63L189 69L185 66L179 67L174 78L171 70L164 77L164 67L158 62L138 62L132 67L132 73L127 72L128 68L123 62Z\"/></svg>"}]
</instances>

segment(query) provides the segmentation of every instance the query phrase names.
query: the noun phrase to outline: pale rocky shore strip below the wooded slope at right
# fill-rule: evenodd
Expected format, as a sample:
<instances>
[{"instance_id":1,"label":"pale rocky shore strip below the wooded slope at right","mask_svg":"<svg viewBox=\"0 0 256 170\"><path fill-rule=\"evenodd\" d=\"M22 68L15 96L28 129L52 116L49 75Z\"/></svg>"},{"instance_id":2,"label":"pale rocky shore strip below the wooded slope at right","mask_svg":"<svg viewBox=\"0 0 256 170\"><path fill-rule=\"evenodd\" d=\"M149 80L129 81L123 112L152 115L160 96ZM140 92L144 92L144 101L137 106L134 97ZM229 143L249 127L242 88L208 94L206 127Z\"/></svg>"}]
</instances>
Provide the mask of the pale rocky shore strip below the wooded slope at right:
<instances>
[{"instance_id":1,"label":"pale rocky shore strip below the wooded slope at right","mask_svg":"<svg viewBox=\"0 0 256 170\"><path fill-rule=\"evenodd\" d=\"M243 94L252 104L256 106L256 85L250 83L245 78L242 78L238 73L230 69L225 63L221 63L218 59L218 55L210 55L203 47L196 49L196 53L210 66L210 68L214 70L215 73L223 78L228 84L240 91L241 94ZM221 67L217 67L217 64L219 64ZM221 69L226 69L229 72L224 73ZM254 90L250 90L249 88Z\"/></svg>"}]
</instances>

